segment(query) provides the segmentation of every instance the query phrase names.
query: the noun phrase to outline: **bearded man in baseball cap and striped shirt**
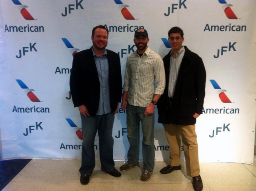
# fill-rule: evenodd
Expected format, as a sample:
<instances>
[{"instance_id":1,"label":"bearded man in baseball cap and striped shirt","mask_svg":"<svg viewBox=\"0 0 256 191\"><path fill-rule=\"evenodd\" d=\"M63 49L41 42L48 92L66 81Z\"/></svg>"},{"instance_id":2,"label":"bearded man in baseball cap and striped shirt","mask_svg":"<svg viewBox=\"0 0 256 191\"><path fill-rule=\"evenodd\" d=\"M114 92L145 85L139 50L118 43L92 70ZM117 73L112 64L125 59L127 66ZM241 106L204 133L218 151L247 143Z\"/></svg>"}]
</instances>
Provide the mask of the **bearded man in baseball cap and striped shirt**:
<instances>
[{"instance_id":1,"label":"bearded man in baseball cap and striped shirt","mask_svg":"<svg viewBox=\"0 0 256 191\"><path fill-rule=\"evenodd\" d=\"M140 122L143 133L142 181L148 181L154 170L154 109L164 93L165 74L162 58L148 47L148 32L144 28L135 31L137 50L126 61L124 92L121 107L126 110L127 137L130 143L128 161L120 167L128 171L139 166ZM154 86L156 82L156 87Z\"/></svg>"}]
</instances>

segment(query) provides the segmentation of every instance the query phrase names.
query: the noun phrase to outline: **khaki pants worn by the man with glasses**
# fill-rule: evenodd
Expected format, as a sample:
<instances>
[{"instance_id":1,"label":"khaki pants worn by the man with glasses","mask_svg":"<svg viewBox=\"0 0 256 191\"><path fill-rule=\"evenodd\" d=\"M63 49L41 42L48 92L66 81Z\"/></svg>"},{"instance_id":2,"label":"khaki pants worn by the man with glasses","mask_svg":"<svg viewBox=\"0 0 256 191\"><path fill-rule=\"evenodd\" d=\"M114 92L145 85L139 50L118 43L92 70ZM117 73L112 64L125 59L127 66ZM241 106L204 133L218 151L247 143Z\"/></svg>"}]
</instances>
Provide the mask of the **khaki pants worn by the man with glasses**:
<instances>
[{"instance_id":1,"label":"khaki pants worn by the man with glasses","mask_svg":"<svg viewBox=\"0 0 256 191\"><path fill-rule=\"evenodd\" d=\"M190 177L200 174L198 161L198 144L196 140L196 125L165 124L165 135L170 147L170 165L180 165L181 140L184 147L187 175Z\"/></svg>"}]
</instances>

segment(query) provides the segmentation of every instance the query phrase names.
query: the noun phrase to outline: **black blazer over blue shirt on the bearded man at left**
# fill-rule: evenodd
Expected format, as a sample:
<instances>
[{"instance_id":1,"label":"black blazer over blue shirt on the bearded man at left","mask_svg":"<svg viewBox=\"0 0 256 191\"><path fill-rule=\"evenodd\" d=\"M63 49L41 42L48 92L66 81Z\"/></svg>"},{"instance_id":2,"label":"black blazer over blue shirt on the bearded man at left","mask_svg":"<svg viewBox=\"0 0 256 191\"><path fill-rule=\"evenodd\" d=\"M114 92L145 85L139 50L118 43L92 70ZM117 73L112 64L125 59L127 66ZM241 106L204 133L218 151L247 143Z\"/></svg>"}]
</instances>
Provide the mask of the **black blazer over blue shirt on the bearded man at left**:
<instances>
[{"instance_id":1,"label":"black blazer over blue shirt on the bearded man at left","mask_svg":"<svg viewBox=\"0 0 256 191\"><path fill-rule=\"evenodd\" d=\"M107 51L109 67L110 107L114 112L122 97L122 76L119 55ZM100 81L92 48L74 54L70 74L70 92L74 107L86 105L89 114L95 116L100 101Z\"/></svg>"}]
</instances>

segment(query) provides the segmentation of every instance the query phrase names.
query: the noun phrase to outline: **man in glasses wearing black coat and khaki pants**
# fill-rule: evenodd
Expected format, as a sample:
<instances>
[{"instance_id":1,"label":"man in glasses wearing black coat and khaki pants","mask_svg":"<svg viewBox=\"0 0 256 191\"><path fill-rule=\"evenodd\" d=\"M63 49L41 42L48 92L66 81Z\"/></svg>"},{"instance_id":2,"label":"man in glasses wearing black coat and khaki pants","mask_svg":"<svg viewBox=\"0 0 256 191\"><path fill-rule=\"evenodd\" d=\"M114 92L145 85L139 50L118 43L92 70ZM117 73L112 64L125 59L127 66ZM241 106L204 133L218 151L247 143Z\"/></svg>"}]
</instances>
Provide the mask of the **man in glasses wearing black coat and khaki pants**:
<instances>
[{"instance_id":1,"label":"man in glasses wearing black coat and khaki pants","mask_svg":"<svg viewBox=\"0 0 256 191\"><path fill-rule=\"evenodd\" d=\"M158 100L158 123L164 123L170 147L170 165L160 173L181 169L181 140L187 175L193 177L193 188L203 189L195 131L196 118L202 113L206 71L202 59L191 52L184 41L183 31L173 27L168 32L172 50L163 58L166 75L164 94Z\"/></svg>"}]
</instances>

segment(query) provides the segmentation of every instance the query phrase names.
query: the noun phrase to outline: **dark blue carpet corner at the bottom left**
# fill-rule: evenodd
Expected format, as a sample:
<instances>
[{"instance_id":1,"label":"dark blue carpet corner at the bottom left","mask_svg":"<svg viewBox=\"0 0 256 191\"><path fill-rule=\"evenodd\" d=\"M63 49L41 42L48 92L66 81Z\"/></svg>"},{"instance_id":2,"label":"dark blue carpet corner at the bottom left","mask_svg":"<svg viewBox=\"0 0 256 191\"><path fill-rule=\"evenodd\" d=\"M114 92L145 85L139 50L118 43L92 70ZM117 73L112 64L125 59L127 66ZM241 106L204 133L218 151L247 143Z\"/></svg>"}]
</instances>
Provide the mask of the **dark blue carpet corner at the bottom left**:
<instances>
[{"instance_id":1,"label":"dark blue carpet corner at the bottom left","mask_svg":"<svg viewBox=\"0 0 256 191\"><path fill-rule=\"evenodd\" d=\"M12 159L0 161L0 190L31 161L31 159Z\"/></svg>"}]
</instances>

